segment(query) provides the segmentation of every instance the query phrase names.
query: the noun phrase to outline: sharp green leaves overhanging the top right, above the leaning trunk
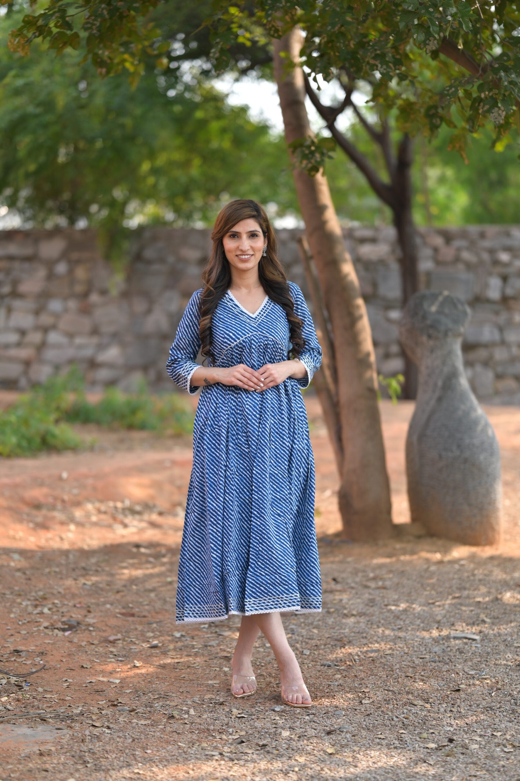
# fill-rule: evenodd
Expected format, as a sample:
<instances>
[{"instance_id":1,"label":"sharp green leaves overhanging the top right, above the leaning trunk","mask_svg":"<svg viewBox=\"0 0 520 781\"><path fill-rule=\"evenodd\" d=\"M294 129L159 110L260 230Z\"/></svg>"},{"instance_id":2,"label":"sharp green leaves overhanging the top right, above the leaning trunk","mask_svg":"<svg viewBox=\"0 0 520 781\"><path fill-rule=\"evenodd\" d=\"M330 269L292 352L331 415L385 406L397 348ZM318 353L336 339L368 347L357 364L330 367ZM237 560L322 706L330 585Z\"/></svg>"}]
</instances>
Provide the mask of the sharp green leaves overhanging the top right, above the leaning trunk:
<instances>
[{"instance_id":1,"label":"sharp green leaves overhanging the top right, above the leaning trunk","mask_svg":"<svg viewBox=\"0 0 520 781\"><path fill-rule=\"evenodd\" d=\"M463 156L468 135L484 124L496 140L520 129L518 2L257 0L229 8L215 0L208 23L217 70L230 66L233 35L253 41L260 27L279 38L299 24L313 77L363 80L374 102L396 109L400 130L433 137L450 127L451 148Z\"/></svg>"}]
</instances>

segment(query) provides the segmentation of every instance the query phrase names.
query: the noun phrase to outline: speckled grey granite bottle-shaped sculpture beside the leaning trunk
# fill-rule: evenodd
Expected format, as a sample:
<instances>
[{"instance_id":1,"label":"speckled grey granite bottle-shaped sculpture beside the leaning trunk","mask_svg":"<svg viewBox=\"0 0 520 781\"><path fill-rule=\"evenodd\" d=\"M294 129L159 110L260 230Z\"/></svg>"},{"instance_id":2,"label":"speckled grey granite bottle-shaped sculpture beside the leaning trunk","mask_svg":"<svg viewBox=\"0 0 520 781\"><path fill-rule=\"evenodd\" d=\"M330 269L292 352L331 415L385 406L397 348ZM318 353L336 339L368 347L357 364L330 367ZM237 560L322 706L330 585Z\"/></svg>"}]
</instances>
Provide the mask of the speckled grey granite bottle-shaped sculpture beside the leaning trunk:
<instances>
[{"instance_id":1,"label":"speckled grey granite bottle-shaped sculpture beside the leaning trunk","mask_svg":"<svg viewBox=\"0 0 520 781\"><path fill-rule=\"evenodd\" d=\"M470 311L447 292L408 301L400 341L418 365L418 394L407 435L412 522L436 537L488 545L500 537L500 450L469 387L461 341Z\"/></svg>"}]
</instances>

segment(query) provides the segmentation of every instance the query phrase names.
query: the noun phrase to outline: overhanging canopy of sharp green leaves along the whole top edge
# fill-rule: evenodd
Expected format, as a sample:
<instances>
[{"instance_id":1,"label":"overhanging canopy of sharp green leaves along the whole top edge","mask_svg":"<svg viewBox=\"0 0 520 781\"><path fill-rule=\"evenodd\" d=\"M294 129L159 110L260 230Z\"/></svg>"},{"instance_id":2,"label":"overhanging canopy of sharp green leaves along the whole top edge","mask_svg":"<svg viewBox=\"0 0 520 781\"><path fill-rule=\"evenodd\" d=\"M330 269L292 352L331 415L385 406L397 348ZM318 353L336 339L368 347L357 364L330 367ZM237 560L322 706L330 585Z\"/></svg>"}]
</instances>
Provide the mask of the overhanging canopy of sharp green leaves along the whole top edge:
<instances>
[{"instance_id":1,"label":"overhanging canopy of sharp green leaves along the whole top edge","mask_svg":"<svg viewBox=\"0 0 520 781\"><path fill-rule=\"evenodd\" d=\"M45 0L13 30L10 46L27 52L41 38L56 52L81 48L101 75L126 69L136 81L146 61L166 68L176 57L167 5L161 0ZM301 0L296 5L255 0L230 5L213 0L208 5L200 0L185 15L208 12L203 34L192 40L207 44L211 39L217 70L267 61L269 39L298 23L306 34L302 55L310 73L330 80L341 71L368 80L378 102L397 110L401 130L435 134L446 124L454 130L452 148L464 154L468 134L482 123L493 125L496 139L520 128L518 2Z\"/></svg>"}]
</instances>

